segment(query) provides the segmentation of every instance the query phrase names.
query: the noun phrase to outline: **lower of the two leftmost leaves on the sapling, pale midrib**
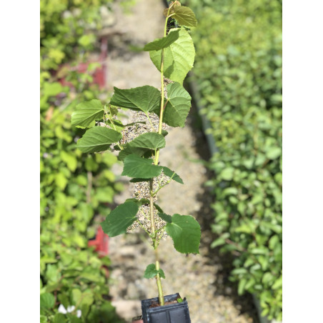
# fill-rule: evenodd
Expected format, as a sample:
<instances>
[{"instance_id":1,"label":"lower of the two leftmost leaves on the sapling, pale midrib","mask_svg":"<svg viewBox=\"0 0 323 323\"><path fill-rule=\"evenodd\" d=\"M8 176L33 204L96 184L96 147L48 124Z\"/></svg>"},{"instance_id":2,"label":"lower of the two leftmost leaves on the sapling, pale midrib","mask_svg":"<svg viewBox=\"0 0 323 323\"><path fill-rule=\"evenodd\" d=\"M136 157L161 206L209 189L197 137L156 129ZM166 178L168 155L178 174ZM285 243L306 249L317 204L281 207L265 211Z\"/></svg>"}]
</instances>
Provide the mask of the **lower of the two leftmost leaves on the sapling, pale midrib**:
<instances>
[{"instance_id":1,"label":"lower of the two leftmost leaves on the sapling, pale midrib","mask_svg":"<svg viewBox=\"0 0 323 323\"><path fill-rule=\"evenodd\" d=\"M109 149L111 144L118 142L122 135L115 130L105 126L95 126L86 131L81 139L77 141L77 148L83 152L91 153Z\"/></svg>"}]
</instances>

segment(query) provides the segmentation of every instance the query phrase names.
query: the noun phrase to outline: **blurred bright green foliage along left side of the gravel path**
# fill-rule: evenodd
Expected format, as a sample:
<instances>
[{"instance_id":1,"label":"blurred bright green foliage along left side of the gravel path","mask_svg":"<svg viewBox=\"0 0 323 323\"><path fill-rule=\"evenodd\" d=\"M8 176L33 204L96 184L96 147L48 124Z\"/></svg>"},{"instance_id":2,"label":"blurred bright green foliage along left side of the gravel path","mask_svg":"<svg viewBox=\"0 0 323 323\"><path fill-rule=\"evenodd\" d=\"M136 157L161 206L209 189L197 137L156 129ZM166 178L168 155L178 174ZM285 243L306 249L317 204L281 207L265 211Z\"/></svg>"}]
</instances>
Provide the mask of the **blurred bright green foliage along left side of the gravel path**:
<instances>
[{"instance_id":1,"label":"blurred bright green foliage along left side of the gravel path","mask_svg":"<svg viewBox=\"0 0 323 323\"><path fill-rule=\"evenodd\" d=\"M61 86L59 64L76 65L96 44L101 0L41 0L41 322L121 322L111 303L109 258L87 247L95 235L94 216L106 215L114 194L112 154L82 154L76 141L84 130L71 126L76 104L99 95L85 74L69 71ZM57 312L59 304L68 314ZM81 310L81 317L77 317Z\"/></svg>"}]
</instances>

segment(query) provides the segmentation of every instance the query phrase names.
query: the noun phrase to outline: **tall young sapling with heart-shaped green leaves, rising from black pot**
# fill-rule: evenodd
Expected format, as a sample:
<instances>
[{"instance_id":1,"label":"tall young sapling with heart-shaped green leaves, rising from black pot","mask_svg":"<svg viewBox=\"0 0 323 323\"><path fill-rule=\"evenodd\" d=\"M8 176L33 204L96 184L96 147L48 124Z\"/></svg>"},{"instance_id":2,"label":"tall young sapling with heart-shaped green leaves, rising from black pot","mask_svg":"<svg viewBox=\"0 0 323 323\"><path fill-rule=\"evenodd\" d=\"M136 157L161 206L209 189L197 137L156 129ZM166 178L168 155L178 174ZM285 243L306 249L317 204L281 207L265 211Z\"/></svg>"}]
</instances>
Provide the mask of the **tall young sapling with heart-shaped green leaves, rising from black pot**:
<instances>
[{"instance_id":1,"label":"tall young sapling with heart-shaped green leaves, rising from black pot","mask_svg":"<svg viewBox=\"0 0 323 323\"><path fill-rule=\"evenodd\" d=\"M165 214L156 204L158 192L167 184L172 181L183 184L176 172L159 164L159 154L166 145L165 126L183 127L189 114L191 96L184 89L183 81L193 67L195 50L187 29L197 26L193 11L179 1L171 2L164 16L164 36L143 49L149 51L151 61L160 71L161 89L149 85L134 89L114 87L108 104L102 105L96 99L81 102L71 116L72 125L86 129L77 141L77 148L89 154L119 151L118 159L123 162L121 175L130 177L130 182L146 192L144 196L135 194L135 198L126 199L110 212L101 227L109 237L138 226L148 234L156 261L146 267L144 277L156 278L161 306L164 305L162 278L165 274L159 264L159 242L168 234L178 252L198 254L201 238L201 229L194 217ZM168 31L169 19L175 19L178 28ZM138 116L136 122L122 124L120 108L133 110Z\"/></svg>"}]
</instances>

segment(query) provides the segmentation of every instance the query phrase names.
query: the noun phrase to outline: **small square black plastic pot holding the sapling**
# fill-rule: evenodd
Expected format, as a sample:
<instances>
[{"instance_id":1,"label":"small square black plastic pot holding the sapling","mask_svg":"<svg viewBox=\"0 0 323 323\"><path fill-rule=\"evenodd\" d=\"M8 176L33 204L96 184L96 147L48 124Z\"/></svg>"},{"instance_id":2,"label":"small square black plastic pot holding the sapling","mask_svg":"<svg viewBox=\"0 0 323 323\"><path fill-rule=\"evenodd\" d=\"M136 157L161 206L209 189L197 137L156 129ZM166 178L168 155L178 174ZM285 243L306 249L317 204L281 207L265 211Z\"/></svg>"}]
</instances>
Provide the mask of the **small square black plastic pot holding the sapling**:
<instances>
[{"instance_id":1,"label":"small square black plastic pot holding the sapling","mask_svg":"<svg viewBox=\"0 0 323 323\"><path fill-rule=\"evenodd\" d=\"M164 297L164 300L165 302L172 302L178 298L180 298L179 293L167 295ZM189 305L186 298L181 303L151 307L151 304L158 304L158 302L158 297L141 301L144 323L191 323Z\"/></svg>"}]
</instances>

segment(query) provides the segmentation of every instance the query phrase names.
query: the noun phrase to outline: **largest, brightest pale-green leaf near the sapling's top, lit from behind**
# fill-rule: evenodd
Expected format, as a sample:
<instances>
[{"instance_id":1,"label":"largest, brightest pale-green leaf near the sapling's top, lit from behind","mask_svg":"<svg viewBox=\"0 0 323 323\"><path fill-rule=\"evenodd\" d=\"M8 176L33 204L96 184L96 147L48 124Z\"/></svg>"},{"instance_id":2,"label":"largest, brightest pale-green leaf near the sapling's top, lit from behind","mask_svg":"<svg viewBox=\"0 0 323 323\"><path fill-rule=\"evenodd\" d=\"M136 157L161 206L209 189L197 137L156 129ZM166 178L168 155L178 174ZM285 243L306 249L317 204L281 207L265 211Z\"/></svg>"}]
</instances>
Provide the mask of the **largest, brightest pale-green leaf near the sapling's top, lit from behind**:
<instances>
[{"instance_id":1,"label":"largest, brightest pale-green leaf near the sapling's top, lit from behind","mask_svg":"<svg viewBox=\"0 0 323 323\"><path fill-rule=\"evenodd\" d=\"M179 30L179 39L159 51L149 51L150 59L160 71L162 50L164 51L164 76L183 84L185 76L192 69L195 49L191 36L185 29L171 29L169 34Z\"/></svg>"}]
</instances>

